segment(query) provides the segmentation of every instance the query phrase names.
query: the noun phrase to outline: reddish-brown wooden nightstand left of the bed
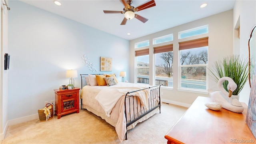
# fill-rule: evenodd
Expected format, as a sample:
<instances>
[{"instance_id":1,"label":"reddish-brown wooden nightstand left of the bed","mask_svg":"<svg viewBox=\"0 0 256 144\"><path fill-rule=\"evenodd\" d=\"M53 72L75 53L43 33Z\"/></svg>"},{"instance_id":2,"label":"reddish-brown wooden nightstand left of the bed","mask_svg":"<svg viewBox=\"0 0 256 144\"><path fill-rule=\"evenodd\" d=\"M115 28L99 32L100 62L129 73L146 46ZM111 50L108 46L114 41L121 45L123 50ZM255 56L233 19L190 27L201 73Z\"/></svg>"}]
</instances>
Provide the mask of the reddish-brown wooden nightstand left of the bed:
<instances>
[{"instance_id":1,"label":"reddish-brown wooden nightstand left of the bed","mask_svg":"<svg viewBox=\"0 0 256 144\"><path fill-rule=\"evenodd\" d=\"M72 90L54 90L55 113L58 119L65 114L72 112L79 113L79 90L80 88L73 88Z\"/></svg>"}]
</instances>

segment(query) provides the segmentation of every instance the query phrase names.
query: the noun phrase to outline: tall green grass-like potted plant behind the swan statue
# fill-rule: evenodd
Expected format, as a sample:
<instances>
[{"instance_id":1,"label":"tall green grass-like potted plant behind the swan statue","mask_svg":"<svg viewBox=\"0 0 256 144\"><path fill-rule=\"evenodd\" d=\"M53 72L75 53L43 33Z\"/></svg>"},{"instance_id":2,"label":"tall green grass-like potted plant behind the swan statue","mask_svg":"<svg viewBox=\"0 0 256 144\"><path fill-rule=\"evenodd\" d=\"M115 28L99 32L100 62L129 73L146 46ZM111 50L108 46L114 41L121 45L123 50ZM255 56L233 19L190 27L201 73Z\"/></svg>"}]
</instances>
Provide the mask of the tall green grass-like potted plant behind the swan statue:
<instances>
[{"instance_id":1,"label":"tall green grass-like potted plant behind the swan statue","mask_svg":"<svg viewBox=\"0 0 256 144\"><path fill-rule=\"evenodd\" d=\"M240 58L239 55L226 56L223 60L214 62L213 68L209 68L210 76L218 83L222 77L228 76L234 80L237 85L232 95L238 95L244 84L248 80L248 60ZM223 87L227 89L228 81L223 83Z\"/></svg>"}]
</instances>

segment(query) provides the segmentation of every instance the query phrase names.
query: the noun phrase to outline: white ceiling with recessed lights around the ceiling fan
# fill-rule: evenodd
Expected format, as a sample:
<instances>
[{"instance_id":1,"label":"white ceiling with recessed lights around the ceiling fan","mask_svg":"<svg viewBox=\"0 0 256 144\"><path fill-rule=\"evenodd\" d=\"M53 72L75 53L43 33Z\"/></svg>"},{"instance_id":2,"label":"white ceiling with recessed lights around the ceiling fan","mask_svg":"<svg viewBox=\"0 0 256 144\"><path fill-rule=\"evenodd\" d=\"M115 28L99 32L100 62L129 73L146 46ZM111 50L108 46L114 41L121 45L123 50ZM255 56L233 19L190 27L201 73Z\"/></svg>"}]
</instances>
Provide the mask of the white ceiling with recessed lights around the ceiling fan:
<instances>
[{"instance_id":1,"label":"white ceiling with recessed lights around the ceiling fan","mask_svg":"<svg viewBox=\"0 0 256 144\"><path fill-rule=\"evenodd\" d=\"M156 6L136 12L148 19L146 23L134 18L127 20L126 25L120 25L124 14L103 12L122 11L124 5L120 0L59 0L61 6L54 4L54 0L20 1L127 40L231 10L235 4L235 0L155 0ZM132 6L137 7L145 2L147 0L133 0ZM208 5L200 8L203 3Z\"/></svg>"}]
</instances>

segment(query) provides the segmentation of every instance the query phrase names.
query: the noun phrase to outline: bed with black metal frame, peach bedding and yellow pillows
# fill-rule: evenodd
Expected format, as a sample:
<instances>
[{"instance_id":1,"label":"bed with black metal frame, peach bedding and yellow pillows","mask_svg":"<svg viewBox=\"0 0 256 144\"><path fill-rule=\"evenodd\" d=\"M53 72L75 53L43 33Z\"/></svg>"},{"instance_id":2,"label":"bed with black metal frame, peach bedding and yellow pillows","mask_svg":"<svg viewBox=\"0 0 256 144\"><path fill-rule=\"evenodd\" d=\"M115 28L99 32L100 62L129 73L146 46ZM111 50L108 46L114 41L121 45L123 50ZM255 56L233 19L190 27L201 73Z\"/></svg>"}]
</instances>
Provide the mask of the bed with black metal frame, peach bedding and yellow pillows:
<instances>
[{"instance_id":1,"label":"bed with black metal frame, peach bedding and yellow pillows","mask_svg":"<svg viewBox=\"0 0 256 144\"><path fill-rule=\"evenodd\" d=\"M106 80L109 77L114 85L96 85L94 75ZM127 131L134 128L156 112L161 113L160 86L117 82L114 74L80 74L81 76L81 108L100 116L115 127L122 142ZM89 79L90 78L90 79ZM99 81L98 81L99 82ZM90 84L88 84L90 83ZM93 84L94 83L94 84Z\"/></svg>"}]
</instances>

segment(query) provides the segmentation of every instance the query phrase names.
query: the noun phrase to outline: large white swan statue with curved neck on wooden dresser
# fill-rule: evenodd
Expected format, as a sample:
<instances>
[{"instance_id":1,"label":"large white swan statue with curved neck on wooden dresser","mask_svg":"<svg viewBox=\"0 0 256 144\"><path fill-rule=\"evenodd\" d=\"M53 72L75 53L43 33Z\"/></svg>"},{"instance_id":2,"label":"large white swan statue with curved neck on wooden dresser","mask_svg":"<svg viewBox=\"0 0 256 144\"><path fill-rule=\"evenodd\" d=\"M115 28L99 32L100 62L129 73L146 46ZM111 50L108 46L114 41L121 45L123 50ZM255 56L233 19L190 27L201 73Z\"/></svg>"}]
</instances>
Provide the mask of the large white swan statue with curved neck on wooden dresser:
<instances>
[{"instance_id":1,"label":"large white swan statue with curved neck on wooden dresser","mask_svg":"<svg viewBox=\"0 0 256 144\"><path fill-rule=\"evenodd\" d=\"M223 82L228 81L228 92L223 87ZM232 96L232 92L236 90L237 85L230 77L222 77L218 81L218 88L220 91L210 92L210 97L213 102L217 102L222 105L222 108L230 110L232 112L241 113L244 111L242 104Z\"/></svg>"}]
</instances>

